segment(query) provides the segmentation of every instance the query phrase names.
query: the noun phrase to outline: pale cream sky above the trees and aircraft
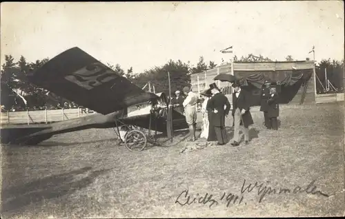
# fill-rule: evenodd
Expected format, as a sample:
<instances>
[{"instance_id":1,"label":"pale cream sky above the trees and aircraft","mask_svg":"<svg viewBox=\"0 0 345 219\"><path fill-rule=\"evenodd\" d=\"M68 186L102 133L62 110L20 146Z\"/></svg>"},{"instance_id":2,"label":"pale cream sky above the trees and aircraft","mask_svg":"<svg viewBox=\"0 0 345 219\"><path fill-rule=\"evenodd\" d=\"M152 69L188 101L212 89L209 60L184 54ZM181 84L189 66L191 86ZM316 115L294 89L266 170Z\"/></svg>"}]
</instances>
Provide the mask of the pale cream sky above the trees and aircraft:
<instances>
[{"instance_id":1,"label":"pale cream sky above the trees and aircraft","mask_svg":"<svg viewBox=\"0 0 345 219\"><path fill-rule=\"evenodd\" d=\"M233 45L233 54L219 50ZM168 60L221 63L262 54L285 61L344 59L343 1L1 3L1 65L79 47L143 72Z\"/></svg>"}]
</instances>

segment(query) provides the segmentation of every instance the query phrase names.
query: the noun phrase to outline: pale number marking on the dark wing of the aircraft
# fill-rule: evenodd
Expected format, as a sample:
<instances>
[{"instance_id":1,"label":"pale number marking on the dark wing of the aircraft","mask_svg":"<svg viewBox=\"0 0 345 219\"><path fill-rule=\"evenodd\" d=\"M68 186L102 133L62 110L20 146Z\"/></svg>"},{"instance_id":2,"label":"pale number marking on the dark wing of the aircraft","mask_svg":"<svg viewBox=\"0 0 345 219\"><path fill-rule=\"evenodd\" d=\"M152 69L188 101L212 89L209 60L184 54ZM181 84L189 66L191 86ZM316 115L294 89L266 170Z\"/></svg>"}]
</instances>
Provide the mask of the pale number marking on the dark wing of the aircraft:
<instances>
[{"instance_id":1,"label":"pale number marking on the dark wing of the aircraft","mask_svg":"<svg viewBox=\"0 0 345 219\"><path fill-rule=\"evenodd\" d=\"M77 70L77 72L65 76L66 80L86 90L91 90L117 78L119 78L119 75L115 74L115 72L102 63L92 63L86 67L82 67L80 70Z\"/></svg>"}]
</instances>

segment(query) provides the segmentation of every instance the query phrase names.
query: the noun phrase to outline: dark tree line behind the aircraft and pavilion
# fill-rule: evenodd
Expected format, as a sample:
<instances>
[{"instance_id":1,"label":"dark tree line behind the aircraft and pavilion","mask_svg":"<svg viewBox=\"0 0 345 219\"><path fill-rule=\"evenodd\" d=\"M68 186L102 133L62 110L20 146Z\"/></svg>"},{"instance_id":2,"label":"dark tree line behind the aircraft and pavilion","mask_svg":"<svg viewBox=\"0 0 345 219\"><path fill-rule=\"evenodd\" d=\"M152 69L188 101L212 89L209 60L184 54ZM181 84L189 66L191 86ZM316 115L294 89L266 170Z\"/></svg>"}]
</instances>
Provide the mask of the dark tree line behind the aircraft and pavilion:
<instances>
[{"instance_id":1,"label":"dark tree line behind the aircraft and pavilion","mask_svg":"<svg viewBox=\"0 0 345 219\"><path fill-rule=\"evenodd\" d=\"M292 56L286 56L286 61L293 61ZM308 60L308 59L306 59ZM1 108L3 110L26 110L26 109L42 109L51 107L67 107L71 105L70 101L51 94L47 90L29 83L26 76L37 70L44 63L49 61L48 58L43 60L37 60L29 63L24 56L21 56L19 61L14 61L11 55L5 56L5 63L1 66ZM268 57L262 55L255 56L248 54L237 58L234 56L234 61L242 62L259 62L259 61L272 61ZM221 65L230 63L228 61L221 61ZM151 67L148 70L144 70L141 73L133 72L133 68L124 70L121 65L111 65L107 63L108 67L114 70L117 74L126 77L132 83L135 83L139 87L144 87L148 81L155 85L156 92L168 93L168 74L170 72L170 83L172 92L175 90L182 90L183 87L190 85L190 74L204 72L205 70L213 69L217 67L215 61L209 61L206 63L203 56L199 56L199 61L193 65L190 61L183 62L181 60L168 61L161 66ZM325 74L324 70L327 70L327 78L334 87L341 91L344 89L344 60L335 61L331 59L323 59L316 65L316 74L321 81L317 80L317 90L322 92L322 85L325 87ZM69 103L66 105L66 103ZM72 105L77 106L75 103Z\"/></svg>"}]
</instances>

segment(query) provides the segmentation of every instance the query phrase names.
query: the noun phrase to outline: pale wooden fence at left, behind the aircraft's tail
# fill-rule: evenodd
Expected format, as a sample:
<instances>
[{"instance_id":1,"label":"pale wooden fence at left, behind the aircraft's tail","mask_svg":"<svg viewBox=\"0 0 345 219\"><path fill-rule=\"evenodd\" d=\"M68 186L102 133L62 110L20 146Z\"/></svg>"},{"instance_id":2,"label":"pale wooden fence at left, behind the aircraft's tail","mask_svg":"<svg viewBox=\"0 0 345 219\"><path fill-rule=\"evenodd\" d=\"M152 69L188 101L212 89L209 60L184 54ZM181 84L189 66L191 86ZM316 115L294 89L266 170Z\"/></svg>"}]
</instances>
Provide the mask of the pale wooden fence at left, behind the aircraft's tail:
<instances>
[{"instance_id":1,"label":"pale wooden fence at left, behind the aircraft's tail","mask_svg":"<svg viewBox=\"0 0 345 219\"><path fill-rule=\"evenodd\" d=\"M61 110L27 110L19 112L1 112L0 124L33 124L66 121L94 114L86 108Z\"/></svg>"}]
</instances>

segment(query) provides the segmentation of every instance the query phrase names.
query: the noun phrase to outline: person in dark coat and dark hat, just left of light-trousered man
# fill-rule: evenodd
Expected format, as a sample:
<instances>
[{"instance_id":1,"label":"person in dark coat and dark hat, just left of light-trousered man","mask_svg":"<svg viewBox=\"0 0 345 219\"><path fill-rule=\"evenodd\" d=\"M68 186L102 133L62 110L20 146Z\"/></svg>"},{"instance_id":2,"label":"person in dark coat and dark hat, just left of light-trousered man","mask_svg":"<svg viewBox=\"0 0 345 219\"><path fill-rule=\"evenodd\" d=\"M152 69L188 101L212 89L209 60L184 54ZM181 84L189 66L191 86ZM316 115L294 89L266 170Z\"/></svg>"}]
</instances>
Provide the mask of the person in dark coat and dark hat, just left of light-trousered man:
<instances>
[{"instance_id":1,"label":"person in dark coat and dark hat, just left of light-trousered man","mask_svg":"<svg viewBox=\"0 0 345 219\"><path fill-rule=\"evenodd\" d=\"M226 144L226 129L225 116L228 116L230 111L230 103L228 98L222 94L215 83L210 85L210 90L213 96L207 103L206 110L210 112L210 127L215 129L218 144Z\"/></svg>"}]
</instances>

